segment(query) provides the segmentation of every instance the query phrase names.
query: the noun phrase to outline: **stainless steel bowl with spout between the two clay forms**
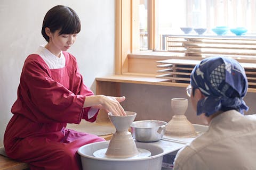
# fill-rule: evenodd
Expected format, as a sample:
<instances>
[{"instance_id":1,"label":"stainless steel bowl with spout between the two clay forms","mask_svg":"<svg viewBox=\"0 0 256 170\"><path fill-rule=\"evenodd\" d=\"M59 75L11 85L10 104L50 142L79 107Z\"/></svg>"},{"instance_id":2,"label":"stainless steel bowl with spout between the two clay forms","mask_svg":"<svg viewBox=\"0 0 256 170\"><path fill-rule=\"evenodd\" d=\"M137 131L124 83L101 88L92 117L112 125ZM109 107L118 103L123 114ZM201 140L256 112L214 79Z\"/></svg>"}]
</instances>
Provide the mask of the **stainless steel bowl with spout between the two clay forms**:
<instances>
[{"instance_id":1,"label":"stainless steel bowl with spout between the two clay forms","mask_svg":"<svg viewBox=\"0 0 256 170\"><path fill-rule=\"evenodd\" d=\"M140 142L155 142L163 137L166 125L164 121L135 121L131 124L132 136Z\"/></svg>"}]
</instances>

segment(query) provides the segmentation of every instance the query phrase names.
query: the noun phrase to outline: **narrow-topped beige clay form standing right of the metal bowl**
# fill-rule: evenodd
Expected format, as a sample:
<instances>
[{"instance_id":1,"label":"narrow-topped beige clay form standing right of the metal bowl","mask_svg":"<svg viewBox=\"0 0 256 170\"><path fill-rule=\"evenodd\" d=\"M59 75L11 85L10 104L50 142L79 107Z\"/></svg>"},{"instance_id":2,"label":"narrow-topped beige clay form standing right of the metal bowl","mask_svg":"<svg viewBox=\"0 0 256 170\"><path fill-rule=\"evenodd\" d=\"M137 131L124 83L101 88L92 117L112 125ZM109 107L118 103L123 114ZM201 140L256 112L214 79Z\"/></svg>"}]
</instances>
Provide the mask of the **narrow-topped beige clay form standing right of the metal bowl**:
<instances>
[{"instance_id":1,"label":"narrow-topped beige clay form standing right of the metal bowl","mask_svg":"<svg viewBox=\"0 0 256 170\"><path fill-rule=\"evenodd\" d=\"M196 137L197 133L193 124L185 116L188 108L188 99L173 98L171 100L171 107L174 116L166 125L165 135L178 138Z\"/></svg>"}]
</instances>

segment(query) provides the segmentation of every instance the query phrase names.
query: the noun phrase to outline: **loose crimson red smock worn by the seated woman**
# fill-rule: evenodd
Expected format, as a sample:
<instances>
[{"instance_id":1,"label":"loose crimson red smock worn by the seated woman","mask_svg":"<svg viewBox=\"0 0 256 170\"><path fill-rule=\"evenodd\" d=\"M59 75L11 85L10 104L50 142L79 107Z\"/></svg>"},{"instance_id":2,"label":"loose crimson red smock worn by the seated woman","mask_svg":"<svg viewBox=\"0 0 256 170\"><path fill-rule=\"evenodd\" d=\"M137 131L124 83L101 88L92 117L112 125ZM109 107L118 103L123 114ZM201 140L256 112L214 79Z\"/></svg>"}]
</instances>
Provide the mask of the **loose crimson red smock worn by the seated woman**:
<instances>
[{"instance_id":1,"label":"loose crimson red smock worn by the seated woman","mask_svg":"<svg viewBox=\"0 0 256 170\"><path fill-rule=\"evenodd\" d=\"M83 84L74 56L63 52L66 65L49 69L37 54L23 65L18 99L6 127L6 154L27 162L30 169L81 169L77 149L87 143L104 141L93 134L66 129L67 123L96 120L88 118L90 107L83 108L86 96L93 92Z\"/></svg>"}]
</instances>

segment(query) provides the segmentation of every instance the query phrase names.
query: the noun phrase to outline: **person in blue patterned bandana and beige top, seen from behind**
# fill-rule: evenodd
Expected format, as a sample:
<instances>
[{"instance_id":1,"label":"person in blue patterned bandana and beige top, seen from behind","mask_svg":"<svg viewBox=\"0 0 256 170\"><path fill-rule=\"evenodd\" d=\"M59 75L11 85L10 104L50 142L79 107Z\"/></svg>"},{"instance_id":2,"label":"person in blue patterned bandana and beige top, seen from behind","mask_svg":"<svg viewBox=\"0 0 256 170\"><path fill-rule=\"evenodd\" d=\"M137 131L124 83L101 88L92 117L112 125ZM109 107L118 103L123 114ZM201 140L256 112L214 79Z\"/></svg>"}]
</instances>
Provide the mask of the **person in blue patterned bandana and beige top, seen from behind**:
<instances>
[{"instance_id":1,"label":"person in blue patterned bandana and beige top, seen from behind","mask_svg":"<svg viewBox=\"0 0 256 170\"><path fill-rule=\"evenodd\" d=\"M209 57L190 78L187 93L209 129L178 151L173 169L256 169L256 115L243 113L249 109L243 67L231 58Z\"/></svg>"}]
</instances>

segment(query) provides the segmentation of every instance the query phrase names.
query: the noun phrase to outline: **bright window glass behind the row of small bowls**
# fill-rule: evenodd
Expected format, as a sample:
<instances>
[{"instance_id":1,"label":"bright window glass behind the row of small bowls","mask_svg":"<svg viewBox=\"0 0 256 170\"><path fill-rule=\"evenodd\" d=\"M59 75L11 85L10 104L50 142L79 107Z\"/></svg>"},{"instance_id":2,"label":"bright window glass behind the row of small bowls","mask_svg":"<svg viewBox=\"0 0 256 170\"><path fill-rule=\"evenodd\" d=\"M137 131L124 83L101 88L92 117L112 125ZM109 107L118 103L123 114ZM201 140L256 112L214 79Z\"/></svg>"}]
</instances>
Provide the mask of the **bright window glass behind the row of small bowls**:
<instances>
[{"instance_id":1,"label":"bright window glass behind the row of small bowls","mask_svg":"<svg viewBox=\"0 0 256 170\"><path fill-rule=\"evenodd\" d=\"M248 36L255 36L256 33L255 0L140 0L139 2L141 50L166 50L163 39L167 35L182 35L180 27L206 28L205 35L215 35L212 28L217 26L244 27ZM152 12L154 12L154 21L151 18ZM150 22L155 22L153 35L150 35ZM196 35L196 32L192 31L190 35ZM230 31L227 35L234 36ZM155 37L154 48L149 46L150 37Z\"/></svg>"}]
</instances>

